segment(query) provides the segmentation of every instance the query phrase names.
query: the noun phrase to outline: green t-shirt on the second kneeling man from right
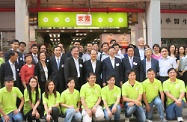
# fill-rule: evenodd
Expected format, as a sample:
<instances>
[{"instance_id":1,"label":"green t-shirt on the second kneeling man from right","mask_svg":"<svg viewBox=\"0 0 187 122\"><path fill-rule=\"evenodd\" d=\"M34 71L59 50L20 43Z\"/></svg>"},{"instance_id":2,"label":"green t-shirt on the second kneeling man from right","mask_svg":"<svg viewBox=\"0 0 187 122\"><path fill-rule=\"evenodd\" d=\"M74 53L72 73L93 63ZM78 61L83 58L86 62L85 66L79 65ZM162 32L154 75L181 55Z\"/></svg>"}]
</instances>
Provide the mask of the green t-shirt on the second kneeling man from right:
<instances>
[{"instance_id":1,"label":"green t-shirt on the second kneeling man from right","mask_svg":"<svg viewBox=\"0 0 187 122\"><path fill-rule=\"evenodd\" d=\"M147 102L152 102L157 96L159 96L159 92L163 91L162 83L154 79L154 82L151 83L149 79L146 79L143 83L143 92L146 94Z\"/></svg>"}]
</instances>

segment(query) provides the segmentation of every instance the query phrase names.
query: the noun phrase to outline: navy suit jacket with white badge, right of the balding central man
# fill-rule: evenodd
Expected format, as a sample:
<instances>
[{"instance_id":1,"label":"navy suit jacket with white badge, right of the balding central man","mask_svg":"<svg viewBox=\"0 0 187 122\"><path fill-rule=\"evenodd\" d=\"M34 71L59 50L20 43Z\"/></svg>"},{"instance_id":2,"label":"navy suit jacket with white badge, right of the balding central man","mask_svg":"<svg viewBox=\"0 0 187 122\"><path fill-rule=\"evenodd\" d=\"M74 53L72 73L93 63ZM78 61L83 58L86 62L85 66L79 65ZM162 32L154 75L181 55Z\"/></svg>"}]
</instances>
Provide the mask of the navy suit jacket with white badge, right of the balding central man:
<instances>
[{"instance_id":1,"label":"navy suit jacket with white badge, right of the balding central man","mask_svg":"<svg viewBox=\"0 0 187 122\"><path fill-rule=\"evenodd\" d=\"M109 75L114 75L115 85L121 87L120 86L120 82L122 81L121 59L115 57L114 68L112 66L110 57L103 60L103 68L102 68L103 83L107 82L107 77Z\"/></svg>"}]
</instances>

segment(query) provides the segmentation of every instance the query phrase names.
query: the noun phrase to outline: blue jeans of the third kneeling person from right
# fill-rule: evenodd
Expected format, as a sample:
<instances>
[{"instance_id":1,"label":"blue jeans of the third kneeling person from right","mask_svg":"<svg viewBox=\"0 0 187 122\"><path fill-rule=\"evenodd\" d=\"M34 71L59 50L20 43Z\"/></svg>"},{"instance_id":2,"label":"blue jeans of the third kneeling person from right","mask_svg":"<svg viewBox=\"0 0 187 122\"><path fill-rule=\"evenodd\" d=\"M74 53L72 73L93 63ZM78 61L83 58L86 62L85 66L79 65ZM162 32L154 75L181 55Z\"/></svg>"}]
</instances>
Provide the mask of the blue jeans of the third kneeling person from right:
<instances>
[{"instance_id":1,"label":"blue jeans of the third kneeling person from right","mask_svg":"<svg viewBox=\"0 0 187 122\"><path fill-rule=\"evenodd\" d=\"M146 117L142 106L133 105L130 107L128 103L126 103L125 116L130 118L132 114L136 116L138 122L145 122Z\"/></svg>"}]
</instances>

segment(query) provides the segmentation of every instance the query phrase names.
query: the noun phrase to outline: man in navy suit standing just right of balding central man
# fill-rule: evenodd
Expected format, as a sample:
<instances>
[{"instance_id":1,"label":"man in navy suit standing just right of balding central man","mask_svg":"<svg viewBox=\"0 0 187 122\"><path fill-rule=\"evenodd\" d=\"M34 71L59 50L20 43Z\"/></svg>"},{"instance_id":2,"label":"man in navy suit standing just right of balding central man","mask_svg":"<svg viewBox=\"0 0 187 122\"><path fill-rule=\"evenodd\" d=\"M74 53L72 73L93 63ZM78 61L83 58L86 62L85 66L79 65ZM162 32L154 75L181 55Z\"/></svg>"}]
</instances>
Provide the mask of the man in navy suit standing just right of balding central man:
<instances>
[{"instance_id":1,"label":"man in navy suit standing just right of balding central man","mask_svg":"<svg viewBox=\"0 0 187 122\"><path fill-rule=\"evenodd\" d=\"M106 86L107 77L109 75L115 76L115 85L121 87L122 85L122 70L121 59L115 57L114 47L109 48L109 57L103 60L102 79L103 86Z\"/></svg>"}]
</instances>

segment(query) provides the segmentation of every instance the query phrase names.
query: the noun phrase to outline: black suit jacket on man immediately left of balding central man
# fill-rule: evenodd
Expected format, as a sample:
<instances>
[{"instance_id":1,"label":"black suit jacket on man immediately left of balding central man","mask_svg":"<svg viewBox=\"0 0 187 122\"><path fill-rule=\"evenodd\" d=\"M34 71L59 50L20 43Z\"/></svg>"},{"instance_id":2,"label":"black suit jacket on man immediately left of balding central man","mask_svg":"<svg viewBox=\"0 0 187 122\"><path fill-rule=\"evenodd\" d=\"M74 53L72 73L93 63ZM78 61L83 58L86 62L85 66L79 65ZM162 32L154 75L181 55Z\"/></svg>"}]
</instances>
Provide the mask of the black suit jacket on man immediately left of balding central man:
<instances>
[{"instance_id":1,"label":"black suit jacket on man immediately left of balding central man","mask_svg":"<svg viewBox=\"0 0 187 122\"><path fill-rule=\"evenodd\" d=\"M81 58L78 59L79 61L79 71L80 71L80 77L77 77L77 69L75 66L75 61L73 57L66 58L64 63L64 77L65 81L67 82L68 78L72 77L75 79L76 89L80 89L81 86L84 84L83 82L83 60Z\"/></svg>"}]
</instances>

